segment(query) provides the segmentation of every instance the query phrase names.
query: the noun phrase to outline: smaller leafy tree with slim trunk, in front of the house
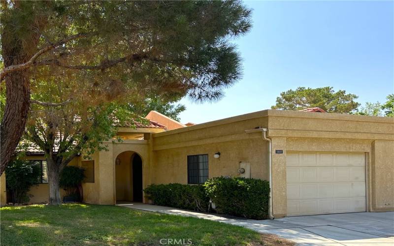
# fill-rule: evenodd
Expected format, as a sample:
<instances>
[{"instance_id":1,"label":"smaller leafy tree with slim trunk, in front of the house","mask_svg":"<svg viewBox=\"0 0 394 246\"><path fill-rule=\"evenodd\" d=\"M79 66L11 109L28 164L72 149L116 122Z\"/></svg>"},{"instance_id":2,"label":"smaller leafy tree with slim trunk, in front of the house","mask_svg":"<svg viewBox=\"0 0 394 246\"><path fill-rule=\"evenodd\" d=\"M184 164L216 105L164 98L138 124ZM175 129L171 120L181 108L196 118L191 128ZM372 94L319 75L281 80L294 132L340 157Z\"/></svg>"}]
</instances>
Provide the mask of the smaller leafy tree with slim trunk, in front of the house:
<instances>
[{"instance_id":1,"label":"smaller leafy tree with slim trunk, in front of the house","mask_svg":"<svg viewBox=\"0 0 394 246\"><path fill-rule=\"evenodd\" d=\"M122 102L140 97L133 97L133 93L122 85L118 85L122 93L117 96L113 96L110 85L91 88L90 83L59 77L49 82L39 80L32 86L34 100L58 103L71 98L56 106L32 104L26 125L25 141L38 146L46 158L49 204L62 202L60 177L73 158L105 150L103 142L117 138L118 125L126 122L132 125L131 119L139 119Z\"/></svg>"}]
</instances>

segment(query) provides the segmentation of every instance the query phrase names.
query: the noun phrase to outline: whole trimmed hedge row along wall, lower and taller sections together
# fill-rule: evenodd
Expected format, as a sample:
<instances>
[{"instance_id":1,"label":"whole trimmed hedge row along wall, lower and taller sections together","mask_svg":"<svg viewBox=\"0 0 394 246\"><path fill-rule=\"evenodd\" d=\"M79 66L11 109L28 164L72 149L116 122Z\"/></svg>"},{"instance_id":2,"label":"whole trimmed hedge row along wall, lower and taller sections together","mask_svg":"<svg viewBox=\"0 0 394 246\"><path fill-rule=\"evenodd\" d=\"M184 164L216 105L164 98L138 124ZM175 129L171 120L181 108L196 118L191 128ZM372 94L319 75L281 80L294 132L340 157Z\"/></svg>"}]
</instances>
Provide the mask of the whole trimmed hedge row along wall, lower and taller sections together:
<instances>
[{"instance_id":1,"label":"whole trimmed hedge row along wall, lower and taller sections together","mask_svg":"<svg viewBox=\"0 0 394 246\"><path fill-rule=\"evenodd\" d=\"M145 190L153 204L207 212L209 200L221 214L265 219L269 183L258 179L212 178L202 185L151 184Z\"/></svg>"}]
</instances>

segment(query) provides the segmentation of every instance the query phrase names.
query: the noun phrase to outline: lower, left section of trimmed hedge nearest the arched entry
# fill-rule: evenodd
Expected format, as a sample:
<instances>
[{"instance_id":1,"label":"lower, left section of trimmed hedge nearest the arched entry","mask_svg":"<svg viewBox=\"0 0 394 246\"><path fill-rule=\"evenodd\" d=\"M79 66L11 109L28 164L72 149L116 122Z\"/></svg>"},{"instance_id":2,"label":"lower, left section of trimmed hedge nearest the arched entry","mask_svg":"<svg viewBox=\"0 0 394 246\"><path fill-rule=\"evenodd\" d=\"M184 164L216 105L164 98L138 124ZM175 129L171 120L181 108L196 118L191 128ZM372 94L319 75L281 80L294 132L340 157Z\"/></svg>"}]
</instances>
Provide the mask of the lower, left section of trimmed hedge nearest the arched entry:
<instances>
[{"instance_id":1,"label":"lower, left section of trimmed hedge nearest the arched entry","mask_svg":"<svg viewBox=\"0 0 394 246\"><path fill-rule=\"evenodd\" d=\"M144 191L155 205L202 212L208 210L209 198L202 185L151 184Z\"/></svg>"}]
</instances>

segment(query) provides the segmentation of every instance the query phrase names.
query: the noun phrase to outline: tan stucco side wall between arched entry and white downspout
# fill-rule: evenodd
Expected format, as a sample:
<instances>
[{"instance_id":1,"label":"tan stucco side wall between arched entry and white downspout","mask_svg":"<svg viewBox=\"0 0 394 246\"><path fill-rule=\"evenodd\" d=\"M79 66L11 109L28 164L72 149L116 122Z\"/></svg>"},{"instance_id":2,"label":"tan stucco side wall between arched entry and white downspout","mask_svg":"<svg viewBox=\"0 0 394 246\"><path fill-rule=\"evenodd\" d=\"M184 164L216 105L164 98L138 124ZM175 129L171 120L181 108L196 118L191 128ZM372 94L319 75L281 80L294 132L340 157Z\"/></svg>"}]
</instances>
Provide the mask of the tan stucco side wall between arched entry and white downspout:
<instances>
[{"instance_id":1,"label":"tan stucco side wall between arched entry and white downspout","mask_svg":"<svg viewBox=\"0 0 394 246\"><path fill-rule=\"evenodd\" d=\"M187 184L187 156L208 154L208 176L239 176L240 161L251 165L251 177L268 178L267 143L261 133L245 130L266 127L264 112L203 123L153 134L153 184ZM220 152L220 158L213 155Z\"/></svg>"}]
</instances>

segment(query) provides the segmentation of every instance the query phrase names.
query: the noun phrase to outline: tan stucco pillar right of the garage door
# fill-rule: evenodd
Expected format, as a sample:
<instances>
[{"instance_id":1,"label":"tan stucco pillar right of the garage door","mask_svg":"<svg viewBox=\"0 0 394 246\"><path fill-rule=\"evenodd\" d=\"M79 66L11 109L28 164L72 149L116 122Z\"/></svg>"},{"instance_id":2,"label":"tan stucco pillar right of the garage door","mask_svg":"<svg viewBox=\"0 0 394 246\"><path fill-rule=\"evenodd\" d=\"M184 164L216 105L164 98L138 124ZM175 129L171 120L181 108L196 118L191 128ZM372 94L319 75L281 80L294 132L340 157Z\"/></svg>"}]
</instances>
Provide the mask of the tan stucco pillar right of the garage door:
<instances>
[{"instance_id":1,"label":"tan stucco pillar right of the garage door","mask_svg":"<svg viewBox=\"0 0 394 246\"><path fill-rule=\"evenodd\" d=\"M375 140L372 142L371 176L369 188L372 189L370 211L394 210L394 141ZM370 194L369 193L369 194Z\"/></svg>"}]
</instances>

